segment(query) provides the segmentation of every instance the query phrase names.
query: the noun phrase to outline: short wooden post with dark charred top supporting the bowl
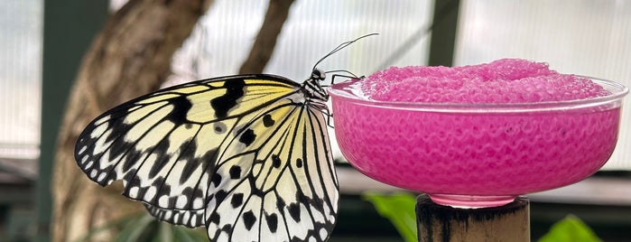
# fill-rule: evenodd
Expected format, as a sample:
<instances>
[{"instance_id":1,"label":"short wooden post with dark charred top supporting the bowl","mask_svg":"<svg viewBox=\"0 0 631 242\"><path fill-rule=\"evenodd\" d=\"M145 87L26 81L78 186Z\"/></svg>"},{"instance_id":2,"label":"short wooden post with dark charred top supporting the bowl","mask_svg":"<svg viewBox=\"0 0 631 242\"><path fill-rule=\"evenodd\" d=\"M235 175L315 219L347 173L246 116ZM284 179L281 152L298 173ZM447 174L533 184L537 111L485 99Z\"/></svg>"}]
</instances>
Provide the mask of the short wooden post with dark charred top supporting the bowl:
<instances>
[{"instance_id":1,"label":"short wooden post with dark charred top supporting the bowl","mask_svg":"<svg viewBox=\"0 0 631 242\"><path fill-rule=\"evenodd\" d=\"M416 221L420 242L530 241L529 201L524 197L501 207L457 209L422 194L416 199Z\"/></svg>"}]
</instances>

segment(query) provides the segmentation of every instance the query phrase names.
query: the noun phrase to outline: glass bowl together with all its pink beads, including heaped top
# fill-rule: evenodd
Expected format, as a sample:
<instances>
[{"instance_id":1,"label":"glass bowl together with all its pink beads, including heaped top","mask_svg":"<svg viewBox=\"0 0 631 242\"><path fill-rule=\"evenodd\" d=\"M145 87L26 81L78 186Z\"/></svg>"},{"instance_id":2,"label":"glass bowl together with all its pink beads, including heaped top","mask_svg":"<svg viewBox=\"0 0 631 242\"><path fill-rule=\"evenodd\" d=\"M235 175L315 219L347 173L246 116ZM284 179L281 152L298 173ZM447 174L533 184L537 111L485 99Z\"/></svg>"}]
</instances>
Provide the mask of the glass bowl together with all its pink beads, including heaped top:
<instances>
[{"instance_id":1,"label":"glass bowl together with all its pink beads, including heaped top","mask_svg":"<svg viewBox=\"0 0 631 242\"><path fill-rule=\"evenodd\" d=\"M349 163L458 207L501 206L598 171L627 92L522 60L392 68L329 88Z\"/></svg>"}]
</instances>

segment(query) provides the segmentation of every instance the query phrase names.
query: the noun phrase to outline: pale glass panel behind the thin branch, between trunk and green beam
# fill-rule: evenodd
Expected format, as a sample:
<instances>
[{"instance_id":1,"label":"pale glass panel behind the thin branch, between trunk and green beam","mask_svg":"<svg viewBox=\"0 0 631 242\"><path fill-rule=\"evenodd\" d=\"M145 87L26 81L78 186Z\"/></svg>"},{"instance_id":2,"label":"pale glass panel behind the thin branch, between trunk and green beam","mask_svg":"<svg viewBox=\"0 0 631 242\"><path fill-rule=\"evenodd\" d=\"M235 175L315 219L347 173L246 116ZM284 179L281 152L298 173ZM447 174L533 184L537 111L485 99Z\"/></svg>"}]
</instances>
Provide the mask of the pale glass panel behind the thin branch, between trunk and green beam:
<instances>
[{"instance_id":1,"label":"pale glass panel behind the thin branch, between trunk and green beam","mask_svg":"<svg viewBox=\"0 0 631 242\"><path fill-rule=\"evenodd\" d=\"M368 75L385 64L423 64L427 59L427 36L420 38L421 41L396 61L380 61L385 61L397 47L429 26L431 4L429 0L296 1L264 72L302 81L311 74L313 64L339 43L368 33L379 35L339 51L320 63L319 68ZM200 77L236 74L255 41L266 9L264 1L215 1L184 48L184 52L201 59L201 62L197 60L197 64L202 64L197 70L200 73L196 74ZM190 49L195 51L186 51ZM197 51L199 49L201 51ZM183 59L190 60L190 57ZM181 70L181 73L186 72Z\"/></svg>"}]
</instances>

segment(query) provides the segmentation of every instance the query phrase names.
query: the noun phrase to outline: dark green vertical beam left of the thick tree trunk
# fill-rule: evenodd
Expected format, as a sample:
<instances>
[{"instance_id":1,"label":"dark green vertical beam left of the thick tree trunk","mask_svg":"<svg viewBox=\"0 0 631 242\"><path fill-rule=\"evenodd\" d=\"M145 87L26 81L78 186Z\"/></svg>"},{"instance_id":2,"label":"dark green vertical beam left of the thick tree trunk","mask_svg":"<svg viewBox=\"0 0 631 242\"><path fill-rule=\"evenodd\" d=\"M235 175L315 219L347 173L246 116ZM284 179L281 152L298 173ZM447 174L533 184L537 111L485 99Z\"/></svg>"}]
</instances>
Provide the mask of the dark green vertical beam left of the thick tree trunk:
<instances>
[{"instance_id":1,"label":"dark green vertical beam left of the thick tree trunk","mask_svg":"<svg viewBox=\"0 0 631 242\"><path fill-rule=\"evenodd\" d=\"M44 0L42 126L36 241L50 241L51 173L57 133L70 87L88 45L107 19L108 1Z\"/></svg>"}]
</instances>

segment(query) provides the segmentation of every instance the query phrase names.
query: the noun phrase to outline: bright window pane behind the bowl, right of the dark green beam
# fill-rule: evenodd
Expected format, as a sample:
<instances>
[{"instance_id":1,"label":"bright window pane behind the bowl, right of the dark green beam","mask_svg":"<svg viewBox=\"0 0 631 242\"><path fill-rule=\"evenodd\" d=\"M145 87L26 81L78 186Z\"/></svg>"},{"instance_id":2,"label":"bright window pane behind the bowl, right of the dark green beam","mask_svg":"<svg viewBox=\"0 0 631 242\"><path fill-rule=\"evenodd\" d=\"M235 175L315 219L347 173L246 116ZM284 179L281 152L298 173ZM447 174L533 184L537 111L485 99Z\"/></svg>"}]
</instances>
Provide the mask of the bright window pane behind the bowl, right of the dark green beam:
<instances>
[{"instance_id":1,"label":"bright window pane behind the bowl, right of the dark green beam","mask_svg":"<svg viewBox=\"0 0 631 242\"><path fill-rule=\"evenodd\" d=\"M631 86L631 1L463 1L459 21L458 65L522 58ZM604 169L631 169L628 102L621 124Z\"/></svg>"}]
</instances>

